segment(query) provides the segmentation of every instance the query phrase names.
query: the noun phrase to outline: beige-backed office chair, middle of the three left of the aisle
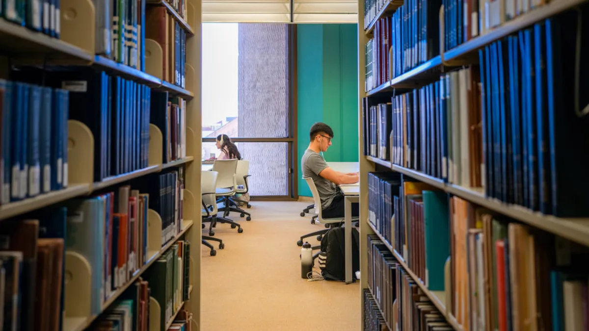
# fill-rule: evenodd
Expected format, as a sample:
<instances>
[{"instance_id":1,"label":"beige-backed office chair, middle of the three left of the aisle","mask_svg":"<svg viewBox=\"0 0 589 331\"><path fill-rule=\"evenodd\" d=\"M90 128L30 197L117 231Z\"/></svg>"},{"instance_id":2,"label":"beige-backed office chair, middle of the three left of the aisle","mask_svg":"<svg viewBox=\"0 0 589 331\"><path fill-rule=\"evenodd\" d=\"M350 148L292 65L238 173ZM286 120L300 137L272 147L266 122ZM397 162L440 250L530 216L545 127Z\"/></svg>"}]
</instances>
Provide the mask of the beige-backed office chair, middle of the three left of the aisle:
<instances>
[{"instance_id":1,"label":"beige-backed office chair, middle of the three left of the aisle","mask_svg":"<svg viewBox=\"0 0 589 331\"><path fill-rule=\"evenodd\" d=\"M230 211L237 211L236 208L230 206L231 200L229 200L229 198L235 196L235 193L237 192L237 158L231 160L215 160L212 171L217 171L217 173L219 173L219 176L217 176L217 184L215 186L215 196L217 197L216 202L223 203L223 207L218 209L218 211L223 211L223 217L217 217L217 219L219 223L231 224L231 229L238 227L237 232L242 233L243 229L241 229L239 223L226 218L229 216Z\"/></svg>"}]
</instances>

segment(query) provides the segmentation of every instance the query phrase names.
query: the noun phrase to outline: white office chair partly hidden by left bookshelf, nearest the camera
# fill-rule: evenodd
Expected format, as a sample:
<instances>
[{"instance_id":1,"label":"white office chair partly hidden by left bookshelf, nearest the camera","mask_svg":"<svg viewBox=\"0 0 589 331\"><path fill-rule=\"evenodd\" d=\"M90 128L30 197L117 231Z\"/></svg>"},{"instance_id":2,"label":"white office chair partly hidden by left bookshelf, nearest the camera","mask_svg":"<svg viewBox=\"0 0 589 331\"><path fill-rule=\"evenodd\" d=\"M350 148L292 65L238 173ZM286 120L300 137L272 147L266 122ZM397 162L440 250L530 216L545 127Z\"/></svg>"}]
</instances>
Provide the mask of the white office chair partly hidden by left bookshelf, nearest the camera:
<instances>
[{"instance_id":1,"label":"white office chair partly hidden by left bookshelf, nearest the camera","mask_svg":"<svg viewBox=\"0 0 589 331\"><path fill-rule=\"evenodd\" d=\"M204 210L201 211L201 216L203 217L203 222L210 222L209 236L215 235L213 227L216 226L217 222L231 224L231 229L237 227L237 233L242 233L243 229L241 229L239 224L230 219L219 216L219 209L217 209L216 200L216 187L219 183L219 173L217 173L217 171L201 171L200 178L204 207Z\"/></svg>"}]
</instances>

